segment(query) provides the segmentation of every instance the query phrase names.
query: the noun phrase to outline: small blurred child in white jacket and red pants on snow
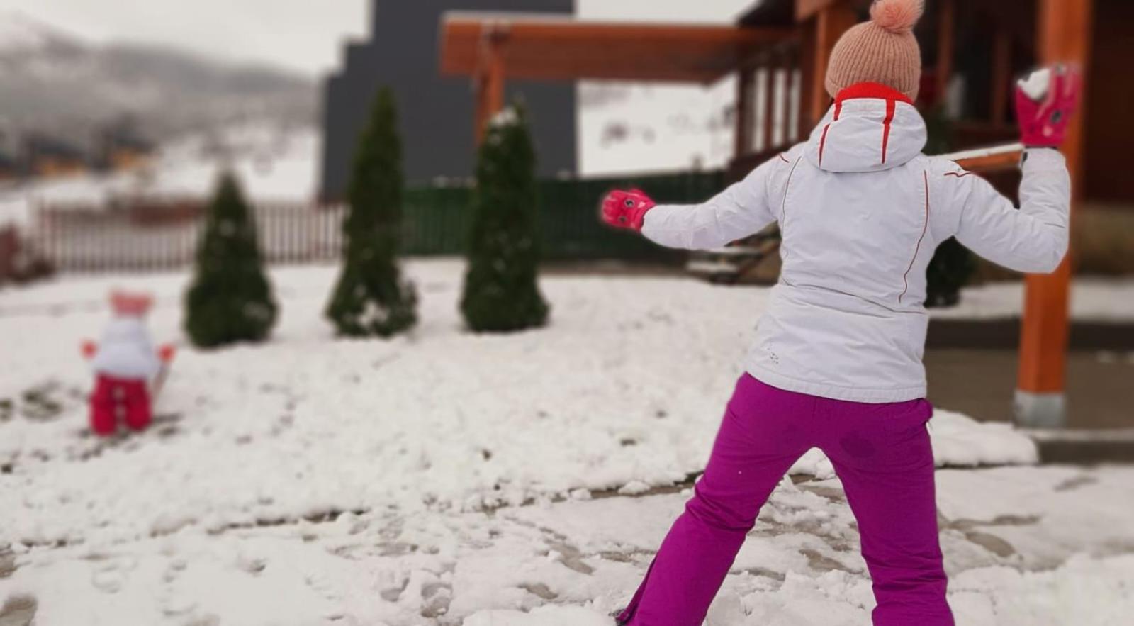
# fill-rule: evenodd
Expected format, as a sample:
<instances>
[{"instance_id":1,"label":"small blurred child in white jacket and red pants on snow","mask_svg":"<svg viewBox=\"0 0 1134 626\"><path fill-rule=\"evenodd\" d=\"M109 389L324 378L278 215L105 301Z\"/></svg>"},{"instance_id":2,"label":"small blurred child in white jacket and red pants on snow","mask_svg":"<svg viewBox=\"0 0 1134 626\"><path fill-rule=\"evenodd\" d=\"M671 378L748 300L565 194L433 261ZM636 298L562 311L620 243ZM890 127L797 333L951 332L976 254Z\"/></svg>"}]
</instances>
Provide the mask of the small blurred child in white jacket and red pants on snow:
<instances>
[{"instance_id":1,"label":"small blurred child in white jacket and red pants on snow","mask_svg":"<svg viewBox=\"0 0 1134 626\"><path fill-rule=\"evenodd\" d=\"M145 328L153 299L145 294L115 290L110 294L113 319L102 341L83 342L83 355L95 372L91 394L91 431L110 437L122 421L133 431L144 430L153 418L150 383L174 358L174 346L154 350Z\"/></svg>"}]
</instances>

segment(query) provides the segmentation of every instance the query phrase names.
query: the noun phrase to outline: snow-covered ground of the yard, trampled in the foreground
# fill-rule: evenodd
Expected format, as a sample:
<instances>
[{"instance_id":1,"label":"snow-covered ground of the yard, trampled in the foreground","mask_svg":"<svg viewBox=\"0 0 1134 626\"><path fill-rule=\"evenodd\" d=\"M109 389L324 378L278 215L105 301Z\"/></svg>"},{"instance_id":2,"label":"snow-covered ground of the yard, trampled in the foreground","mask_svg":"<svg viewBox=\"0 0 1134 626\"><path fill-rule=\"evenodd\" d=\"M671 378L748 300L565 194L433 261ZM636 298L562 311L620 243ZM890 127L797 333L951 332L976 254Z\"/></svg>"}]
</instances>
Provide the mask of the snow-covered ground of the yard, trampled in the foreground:
<instances>
[{"instance_id":1,"label":"snow-covered ground of the yard, trampled in the foreground","mask_svg":"<svg viewBox=\"0 0 1134 626\"><path fill-rule=\"evenodd\" d=\"M551 277L549 328L473 336L460 263L408 271L422 323L392 341L332 338L333 268L273 271L273 339L183 349L155 426L112 442L84 433L78 342L112 285L152 290L155 339L176 340L187 277L0 291L0 623L609 623L703 466L767 291ZM943 409L932 432L958 623L1134 610L1134 469L1031 466L1026 439ZM819 456L796 473L814 477L777 490L710 624L866 621L838 481Z\"/></svg>"}]
</instances>

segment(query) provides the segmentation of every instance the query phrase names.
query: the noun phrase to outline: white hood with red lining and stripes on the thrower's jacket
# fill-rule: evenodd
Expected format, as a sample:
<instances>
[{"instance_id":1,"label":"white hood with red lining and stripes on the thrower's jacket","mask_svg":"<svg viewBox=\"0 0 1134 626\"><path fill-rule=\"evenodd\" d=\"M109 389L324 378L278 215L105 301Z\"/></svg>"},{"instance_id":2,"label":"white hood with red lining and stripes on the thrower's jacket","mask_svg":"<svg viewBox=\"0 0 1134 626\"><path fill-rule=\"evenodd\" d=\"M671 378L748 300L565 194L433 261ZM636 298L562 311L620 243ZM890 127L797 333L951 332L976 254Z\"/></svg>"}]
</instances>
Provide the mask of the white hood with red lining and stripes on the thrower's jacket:
<instances>
[{"instance_id":1,"label":"white hood with red lining and stripes on the thrower's jacket","mask_svg":"<svg viewBox=\"0 0 1134 626\"><path fill-rule=\"evenodd\" d=\"M826 171L881 171L921 154L925 141L925 120L908 98L886 85L860 83L839 92L805 154Z\"/></svg>"}]
</instances>

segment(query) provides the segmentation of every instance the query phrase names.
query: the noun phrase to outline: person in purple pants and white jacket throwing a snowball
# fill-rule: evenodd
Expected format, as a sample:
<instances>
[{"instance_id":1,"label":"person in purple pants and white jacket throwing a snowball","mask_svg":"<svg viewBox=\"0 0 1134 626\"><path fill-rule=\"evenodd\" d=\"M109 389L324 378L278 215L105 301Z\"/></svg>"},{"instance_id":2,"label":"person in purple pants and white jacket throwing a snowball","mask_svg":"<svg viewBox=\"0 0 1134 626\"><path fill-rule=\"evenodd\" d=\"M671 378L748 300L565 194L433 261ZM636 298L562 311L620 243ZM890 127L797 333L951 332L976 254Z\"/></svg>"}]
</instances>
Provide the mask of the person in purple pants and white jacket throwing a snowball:
<instances>
[{"instance_id":1,"label":"person in purple pants and white jacket throwing a snowball","mask_svg":"<svg viewBox=\"0 0 1134 626\"><path fill-rule=\"evenodd\" d=\"M946 599L925 400L925 269L938 244L1025 272L1067 252L1070 179L1058 147L1075 70L1016 95L1021 208L956 163L922 154L914 101L921 0L875 0L836 44L833 105L811 138L695 206L612 192L608 225L670 247L711 249L779 223L784 269L760 320L704 475L619 624L695 626L760 508L811 448L827 454L858 522L875 626L953 626Z\"/></svg>"}]
</instances>

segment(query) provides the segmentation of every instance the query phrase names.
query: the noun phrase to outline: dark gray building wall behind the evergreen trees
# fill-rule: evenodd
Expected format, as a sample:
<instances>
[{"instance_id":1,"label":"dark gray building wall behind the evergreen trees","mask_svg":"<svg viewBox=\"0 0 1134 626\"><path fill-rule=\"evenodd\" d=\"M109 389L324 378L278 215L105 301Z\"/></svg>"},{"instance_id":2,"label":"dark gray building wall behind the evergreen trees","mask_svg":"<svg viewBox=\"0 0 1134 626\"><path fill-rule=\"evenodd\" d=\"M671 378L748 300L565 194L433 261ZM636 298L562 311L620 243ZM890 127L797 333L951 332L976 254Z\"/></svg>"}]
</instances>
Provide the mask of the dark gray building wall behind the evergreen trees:
<instances>
[{"instance_id":1,"label":"dark gray building wall behind the evergreen trees","mask_svg":"<svg viewBox=\"0 0 1134 626\"><path fill-rule=\"evenodd\" d=\"M472 83L440 76L440 20L448 10L573 14L574 0L374 0L371 39L348 43L344 68L323 92L321 194L346 193L350 161L374 93L393 88L411 181L473 174L475 110ZM575 85L507 82L532 122L539 172L576 171Z\"/></svg>"}]
</instances>

